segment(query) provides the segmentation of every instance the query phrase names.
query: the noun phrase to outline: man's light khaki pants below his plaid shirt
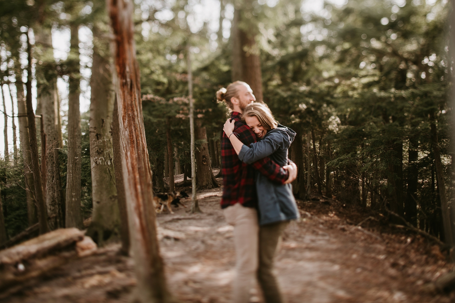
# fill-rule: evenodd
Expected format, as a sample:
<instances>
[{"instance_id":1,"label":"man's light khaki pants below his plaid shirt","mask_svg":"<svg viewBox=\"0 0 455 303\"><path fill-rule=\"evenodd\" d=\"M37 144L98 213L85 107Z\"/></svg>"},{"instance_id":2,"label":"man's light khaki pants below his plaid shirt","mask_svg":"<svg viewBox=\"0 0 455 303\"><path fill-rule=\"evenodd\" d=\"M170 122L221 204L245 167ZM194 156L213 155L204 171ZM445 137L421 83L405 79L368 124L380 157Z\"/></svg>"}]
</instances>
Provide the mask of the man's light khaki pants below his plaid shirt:
<instances>
[{"instance_id":1,"label":"man's light khaki pants below his plaid shirt","mask_svg":"<svg viewBox=\"0 0 455 303\"><path fill-rule=\"evenodd\" d=\"M258 213L237 203L224 209L224 217L234 227L236 275L232 302L248 303L258 269Z\"/></svg>"}]
</instances>

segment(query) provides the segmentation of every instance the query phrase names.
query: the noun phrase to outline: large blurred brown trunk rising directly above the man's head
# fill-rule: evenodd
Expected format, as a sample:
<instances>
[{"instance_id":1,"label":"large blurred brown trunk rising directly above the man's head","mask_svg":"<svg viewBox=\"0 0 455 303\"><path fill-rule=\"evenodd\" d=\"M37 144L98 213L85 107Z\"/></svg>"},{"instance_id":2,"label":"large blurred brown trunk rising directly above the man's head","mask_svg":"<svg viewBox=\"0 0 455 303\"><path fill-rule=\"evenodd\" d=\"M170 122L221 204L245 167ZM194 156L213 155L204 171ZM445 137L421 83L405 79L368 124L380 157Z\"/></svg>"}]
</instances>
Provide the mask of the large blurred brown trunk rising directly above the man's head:
<instances>
[{"instance_id":1,"label":"large blurred brown trunk rising directly above the man's head","mask_svg":"<svg viewBox=\"0 0 455 303\"><path fill-rule=\"evenodd\" d=\"M232 81L241 80L253 89L257 102L263 102L260 50L256 44L258 30L245 22L245 14L253 12L252 0L246 0L234 10L232 35ZM248 7L248 9L247 9Z\"/></svg>"}]
</instances>

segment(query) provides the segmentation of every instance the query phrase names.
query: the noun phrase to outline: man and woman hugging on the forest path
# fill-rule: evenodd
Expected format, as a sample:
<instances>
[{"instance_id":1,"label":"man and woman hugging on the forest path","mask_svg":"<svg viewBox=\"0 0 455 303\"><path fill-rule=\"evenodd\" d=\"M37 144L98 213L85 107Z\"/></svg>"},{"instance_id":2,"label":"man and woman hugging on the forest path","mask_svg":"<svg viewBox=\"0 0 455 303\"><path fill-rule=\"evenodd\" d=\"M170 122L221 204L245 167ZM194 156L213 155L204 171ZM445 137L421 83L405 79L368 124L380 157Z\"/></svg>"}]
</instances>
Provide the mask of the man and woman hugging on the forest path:
<instances>
[{"instance_id":1,"label":"man and woman hugging on the forest path","mask_svg":"<svg viewBox=\"0 0 455 303\"><path fill-rule=\"evenodd\" d=\"M248 303L257 278L265 302L282 303L272 270L281 233L299 217L290 184L297 167L288 159L295 132L278 124L267 105L254 102L245 82L218 90L217 99L232 109L221 140L221 207L234 227L236 252L232 302Z\"/></svg>"}]
</instances>

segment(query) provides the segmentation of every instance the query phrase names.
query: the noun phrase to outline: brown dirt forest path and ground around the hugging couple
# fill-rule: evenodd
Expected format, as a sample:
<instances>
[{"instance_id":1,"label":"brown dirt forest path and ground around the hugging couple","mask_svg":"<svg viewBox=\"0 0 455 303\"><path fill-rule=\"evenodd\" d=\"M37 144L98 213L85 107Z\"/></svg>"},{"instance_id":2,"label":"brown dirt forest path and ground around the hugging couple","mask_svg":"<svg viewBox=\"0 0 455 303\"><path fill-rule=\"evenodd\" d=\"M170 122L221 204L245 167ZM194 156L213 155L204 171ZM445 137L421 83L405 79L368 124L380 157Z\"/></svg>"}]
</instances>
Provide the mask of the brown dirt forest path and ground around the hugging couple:
<instances>
[{"instance_id":1,"label":"brown dirt forest path and ground around the hugging couple","mask_svg":"<svg viewBox=\"0 0 455 303\"><path fill-rule=\"evenodd\" d=\"M203 214L180 208L158 215L168 284L182 302L229 302L235 258L220 196L221 189L198 193ZM276 262L289 303L455 302L450 295L418 292L421 284L451 269L439 249L423 239L379 233L368 228L374 220L356 228L330 200L300 206L302 220L286 229ZM118 248L99 249L2 302L128 302L136 283L133 262L117 255ZM253 292L252 302L263 301Z\"/></svg>"}]
</instances>

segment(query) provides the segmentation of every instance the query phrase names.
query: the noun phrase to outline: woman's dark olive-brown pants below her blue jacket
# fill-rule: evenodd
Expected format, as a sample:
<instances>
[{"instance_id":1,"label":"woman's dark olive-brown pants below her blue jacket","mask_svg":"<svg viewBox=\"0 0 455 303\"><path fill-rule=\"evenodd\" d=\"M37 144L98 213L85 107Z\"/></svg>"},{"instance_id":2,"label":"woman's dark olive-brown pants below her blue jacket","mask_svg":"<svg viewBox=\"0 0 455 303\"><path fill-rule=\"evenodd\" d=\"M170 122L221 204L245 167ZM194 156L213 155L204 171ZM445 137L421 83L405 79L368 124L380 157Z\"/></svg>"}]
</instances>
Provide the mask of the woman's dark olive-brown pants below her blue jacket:
<instances>
[{"instance_id":1,"label":"woman's dark olive-brown pants below her blue jacket","mask_svg":"<svg viewBox=\"0 0 455 303\"><path fill-rule=\"evenodd\" d=\"M278 239L288 224L289 221L281 221L259 228L258 282L266 303L283 303L283 297L272 270Z\"/></svg>"}]
</instances>

